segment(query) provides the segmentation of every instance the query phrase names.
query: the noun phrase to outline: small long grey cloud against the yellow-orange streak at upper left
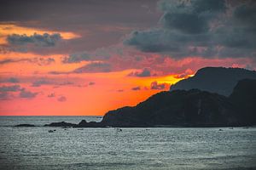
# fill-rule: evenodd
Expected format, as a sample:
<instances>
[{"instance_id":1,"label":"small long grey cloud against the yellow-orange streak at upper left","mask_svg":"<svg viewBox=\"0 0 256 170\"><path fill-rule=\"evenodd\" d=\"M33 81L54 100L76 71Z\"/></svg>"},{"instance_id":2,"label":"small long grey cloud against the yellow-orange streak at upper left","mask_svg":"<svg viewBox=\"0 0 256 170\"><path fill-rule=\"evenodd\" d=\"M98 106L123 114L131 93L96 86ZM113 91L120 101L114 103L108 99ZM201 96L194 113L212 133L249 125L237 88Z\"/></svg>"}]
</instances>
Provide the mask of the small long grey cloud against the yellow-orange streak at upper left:
<instances>
[{"instance_id":1,"label":"small long grey cloud against the yellow-orange streak at upper left","mask_svg":"<svg viewBox=\"0 0 256 170\"><path fill-rule=\"evenodd\" d=\"M10 45L23 46L33 44L39 47L53 47L56 42L61 40L61 34L48 34L44 33L43 35L34 33L32 36L27 36L26 34L12 34L7 37L7 41Z\"/></svg>"}]
</instances>

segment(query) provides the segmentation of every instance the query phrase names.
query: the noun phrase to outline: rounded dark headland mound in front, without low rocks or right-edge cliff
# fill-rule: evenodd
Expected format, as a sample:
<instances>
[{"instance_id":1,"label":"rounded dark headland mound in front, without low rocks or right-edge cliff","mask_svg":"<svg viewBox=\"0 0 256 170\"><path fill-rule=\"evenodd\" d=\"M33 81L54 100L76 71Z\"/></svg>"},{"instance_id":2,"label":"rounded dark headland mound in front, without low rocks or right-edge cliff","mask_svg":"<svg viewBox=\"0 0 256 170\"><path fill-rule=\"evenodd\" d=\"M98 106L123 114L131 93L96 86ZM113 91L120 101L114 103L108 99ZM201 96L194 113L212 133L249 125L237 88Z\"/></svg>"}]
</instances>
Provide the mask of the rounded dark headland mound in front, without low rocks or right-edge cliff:
<instances>
[{"instance_id":1,"label":"rounded dark headland mound in front, without low rocks or right-edge cliff","mask_svg":"<svg viewBox=\"0 0 256 170\"><path fill-rule=\"evenodd\" d=\"M236 124L232 108L229 99L219 94L176 90L155 94L135 107L109 111L102 123L112 127L231 126Z\"/></svg>"}]
</instances>

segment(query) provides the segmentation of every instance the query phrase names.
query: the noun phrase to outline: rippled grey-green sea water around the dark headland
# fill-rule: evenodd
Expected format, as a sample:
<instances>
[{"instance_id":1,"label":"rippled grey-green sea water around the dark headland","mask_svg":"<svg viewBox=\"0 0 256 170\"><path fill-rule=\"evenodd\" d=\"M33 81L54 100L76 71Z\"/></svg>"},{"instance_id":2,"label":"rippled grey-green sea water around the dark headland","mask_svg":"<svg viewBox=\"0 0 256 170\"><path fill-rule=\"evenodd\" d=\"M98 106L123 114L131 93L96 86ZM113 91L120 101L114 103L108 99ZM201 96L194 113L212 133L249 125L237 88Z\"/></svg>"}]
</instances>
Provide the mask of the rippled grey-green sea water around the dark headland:
<instances>
[{"instance_id":1,"label":"rippled grey-green sea water around the dark headland","mask_svg":"<svg viewBox=\"0 0 256 170\"><path fill-rule=\"evenodd\" d=\"M256 169L256 127L43 127L82 119L0 116L0 169Z\"/></svg>"}]
</instances>

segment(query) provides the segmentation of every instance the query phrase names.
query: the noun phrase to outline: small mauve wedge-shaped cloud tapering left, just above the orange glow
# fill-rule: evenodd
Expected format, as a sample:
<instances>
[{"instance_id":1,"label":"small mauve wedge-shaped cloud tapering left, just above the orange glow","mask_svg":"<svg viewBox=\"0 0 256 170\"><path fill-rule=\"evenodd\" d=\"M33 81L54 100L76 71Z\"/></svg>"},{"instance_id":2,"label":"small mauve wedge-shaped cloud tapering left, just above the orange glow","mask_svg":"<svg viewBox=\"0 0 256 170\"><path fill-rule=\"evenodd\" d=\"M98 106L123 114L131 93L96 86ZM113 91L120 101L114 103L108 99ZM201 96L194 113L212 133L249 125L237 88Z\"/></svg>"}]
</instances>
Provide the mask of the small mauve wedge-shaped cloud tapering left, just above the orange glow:
<instances>
[{"instance_id":1,"label":"small mauve wedge-shaped cloud tapering left, just above the orange glow","mask_svg":"<svg viewBox=\"0 0 256 170\"><path fill-rule=\"evenodd\" d=\"M92 73L92 72L110 72L111 65L104 62L92 62L88 65L84 65L76 70L74 73Z\"/></svg>"}]
</instances>

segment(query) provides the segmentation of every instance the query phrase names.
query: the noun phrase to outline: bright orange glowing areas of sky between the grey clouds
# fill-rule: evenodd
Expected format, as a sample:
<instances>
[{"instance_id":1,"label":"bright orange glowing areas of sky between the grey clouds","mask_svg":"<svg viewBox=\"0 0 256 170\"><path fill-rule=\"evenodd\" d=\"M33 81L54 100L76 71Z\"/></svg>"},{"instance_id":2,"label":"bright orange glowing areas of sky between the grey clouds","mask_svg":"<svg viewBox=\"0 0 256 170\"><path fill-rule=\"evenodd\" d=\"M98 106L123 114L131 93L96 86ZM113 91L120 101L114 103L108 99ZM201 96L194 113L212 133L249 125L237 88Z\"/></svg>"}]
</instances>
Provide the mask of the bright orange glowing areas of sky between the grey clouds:
<instances>
[{"instance_id":1,"label":"bright orange glowing areas of sky between the grey clouds","mask_svg":"<svg viewBox=\"0 0 256 170\"><path fill-rule=\"evenodd\" d=\"M8 29L7 29L8 28ZM53 33L38 29L15 25L0 25L0 43L6 42L11 34L33 35L34 32ZM58 32L64 39L76 38L72 32ZM129 73L140 69L126 69L122 71L82 73L82 74L49 74L49 71L69 72L90 62L63 64L63 54L49 54L47 56L31 52L9 52L0 54L0 59L12 59L1 65L1 87L19 85L26 91L36 94L34 97L22 98L22 90L10 91L9 99L2 99L0 105L1 116L102 116L107 111L125 105L137 105L152 94L161 90L168 90L170 84L179 79L177 75L161 75L154 77L131 77ZM43 60L40 60L42 58ZM55 59L53 63L44 63L47 58ZM24 60L22 60L24 59ZM31 60L30 60L31 59ZM45 61L46 62L46 61ZM8 82L15 77L19 82ZM46 81L38 86L37 81ZM47 82L49 81L49 82ZM151 89L151 83L165 83L165 88ZM139 88L134 90L132 88ZM50 96L52 94L52 96ZM50 97L49 97L50 96Z\"/></svg>"}]
</instances>

